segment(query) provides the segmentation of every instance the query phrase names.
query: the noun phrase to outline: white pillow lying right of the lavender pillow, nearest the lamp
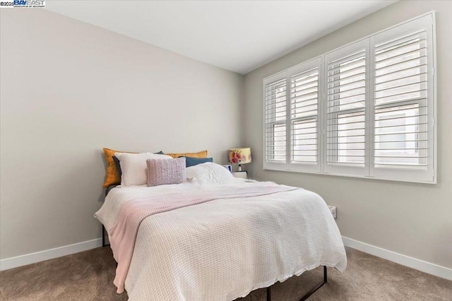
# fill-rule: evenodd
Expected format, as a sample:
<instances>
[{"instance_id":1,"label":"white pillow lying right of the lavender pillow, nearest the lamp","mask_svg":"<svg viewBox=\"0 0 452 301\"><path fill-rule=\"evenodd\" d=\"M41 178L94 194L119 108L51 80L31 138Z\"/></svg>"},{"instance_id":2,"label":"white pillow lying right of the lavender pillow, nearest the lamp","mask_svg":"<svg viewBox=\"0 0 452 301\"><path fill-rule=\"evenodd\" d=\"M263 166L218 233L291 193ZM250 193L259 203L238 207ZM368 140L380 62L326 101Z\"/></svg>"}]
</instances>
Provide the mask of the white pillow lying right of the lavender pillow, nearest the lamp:
<instances>
[{"instance_id":1,"label":"white pillow lying right of the lavender pillow, nearest the lamp","mask_svg":"<svg viewBox=\"0 0 452 301\"><path fill-rule=\"evenodd\" d=\"M186 177L199 184L225 184L234 181L234 176L224 166L208 162L186 168Z\"/></svg>"}]
</instances>

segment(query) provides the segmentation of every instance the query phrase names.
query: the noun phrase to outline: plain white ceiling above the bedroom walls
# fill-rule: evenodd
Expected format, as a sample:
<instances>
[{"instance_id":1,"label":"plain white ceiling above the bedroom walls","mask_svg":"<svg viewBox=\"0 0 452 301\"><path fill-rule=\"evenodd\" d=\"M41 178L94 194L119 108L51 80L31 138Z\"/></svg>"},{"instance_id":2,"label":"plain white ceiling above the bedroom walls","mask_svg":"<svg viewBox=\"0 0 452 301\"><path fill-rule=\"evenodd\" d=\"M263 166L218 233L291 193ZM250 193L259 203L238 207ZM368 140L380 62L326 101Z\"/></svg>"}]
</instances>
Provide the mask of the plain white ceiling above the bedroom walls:
<instances>
[{"instance_id":1,"label":"plain white ceiling above the bedroom walls","mask_svg":"<svg viewBox=\"0 0 452 301\"><path fill-rule=\"evenodd\" d=\"M248 73L396 1L46 1L46 9Z\"/></svg>"}]
</instances>

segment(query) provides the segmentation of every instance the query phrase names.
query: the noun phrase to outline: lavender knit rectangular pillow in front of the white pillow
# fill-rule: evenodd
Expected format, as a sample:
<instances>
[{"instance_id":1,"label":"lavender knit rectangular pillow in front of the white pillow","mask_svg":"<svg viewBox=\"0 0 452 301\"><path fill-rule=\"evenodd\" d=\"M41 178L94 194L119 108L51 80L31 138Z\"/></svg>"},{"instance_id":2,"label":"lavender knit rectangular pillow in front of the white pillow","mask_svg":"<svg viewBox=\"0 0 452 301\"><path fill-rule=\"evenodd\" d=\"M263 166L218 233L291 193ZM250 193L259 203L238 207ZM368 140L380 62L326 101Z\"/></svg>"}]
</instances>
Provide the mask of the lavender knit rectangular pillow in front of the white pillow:
<instances>
[{"instance_id":1,"label":"lavender knit rectangular pillow in front of the white pillow","mask_svg":"<svg viewBox=\"0 0 452 301\"><path fill-rule=\"evenodd\" d=\"M180 184L185 181L185 158L148 159L148 186Z\"/></svg>"}]
</instances>

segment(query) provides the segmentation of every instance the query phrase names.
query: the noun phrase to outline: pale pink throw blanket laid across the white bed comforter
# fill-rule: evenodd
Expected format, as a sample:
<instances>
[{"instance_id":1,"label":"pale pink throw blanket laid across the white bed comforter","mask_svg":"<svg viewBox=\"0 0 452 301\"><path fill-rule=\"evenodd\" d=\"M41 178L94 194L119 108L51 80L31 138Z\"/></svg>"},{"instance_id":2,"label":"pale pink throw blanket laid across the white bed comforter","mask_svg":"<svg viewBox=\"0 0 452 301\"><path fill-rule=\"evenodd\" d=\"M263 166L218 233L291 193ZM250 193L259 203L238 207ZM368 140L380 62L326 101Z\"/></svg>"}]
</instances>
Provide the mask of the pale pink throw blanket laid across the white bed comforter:
<instances>
[{"instance_id":1,"label":"pale pink throw blanket laid across the white bed comforter","mask_svg":"<svg viewBox=\"0 0 452 301\"><path fill-rule=\"evenodd\" d=\"M109 230L109 240L113 250L114 259L118 266L114 285L117 286L117 293L124 292L124 282L131 264L133 249L135 247L136 235L141 222L148 216L177 208L205 203L215 199L235 199L251 196L263 196L275 194L277 192L292 191L296 187L283 185L275 186L254 186L254 187L222 187L214 191L196 191L187 189L174 194L153 196L141 199L134 199L127 202L119 213L117 222Z\"/></svg>"}]
</instances>

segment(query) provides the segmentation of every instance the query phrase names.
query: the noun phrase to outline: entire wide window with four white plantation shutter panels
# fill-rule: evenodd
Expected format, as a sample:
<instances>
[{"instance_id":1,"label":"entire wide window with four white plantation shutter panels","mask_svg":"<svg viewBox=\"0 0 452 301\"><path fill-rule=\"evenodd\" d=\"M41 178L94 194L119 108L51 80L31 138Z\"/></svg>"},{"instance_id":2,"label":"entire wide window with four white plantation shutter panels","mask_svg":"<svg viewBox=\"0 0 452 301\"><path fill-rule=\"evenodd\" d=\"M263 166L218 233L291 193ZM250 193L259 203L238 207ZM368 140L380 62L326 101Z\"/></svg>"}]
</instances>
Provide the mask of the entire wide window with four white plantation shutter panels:
<instances>
[{"instance_id":1,"label":"entire wide window with four white plantation shutter panels","mask_svg":"<svg viewBox=\"0 0 452 301\"><path fill-rule=\"evenodd\" d=\"M265 78L264 169L435 183L434 13Z\"/></svg>"}]
</instances>

